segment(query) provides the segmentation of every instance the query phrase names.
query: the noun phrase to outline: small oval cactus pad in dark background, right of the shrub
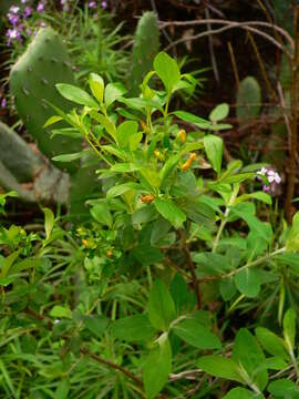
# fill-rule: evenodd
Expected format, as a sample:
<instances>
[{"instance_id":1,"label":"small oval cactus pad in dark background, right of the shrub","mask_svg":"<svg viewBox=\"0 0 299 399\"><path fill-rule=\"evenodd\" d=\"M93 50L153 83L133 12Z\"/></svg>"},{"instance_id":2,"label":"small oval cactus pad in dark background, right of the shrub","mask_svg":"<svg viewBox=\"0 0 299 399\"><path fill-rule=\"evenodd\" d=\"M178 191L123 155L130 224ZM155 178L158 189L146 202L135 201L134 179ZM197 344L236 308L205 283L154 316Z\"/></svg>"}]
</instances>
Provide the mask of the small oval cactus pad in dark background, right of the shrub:
<instances>
[{"instance_id":1,"label":"small oval cactus pad in dark background, right of the shrub","mask_svg":"<svg viewBox=\"0 0 299 399\"><path fill-rule=\"evenodd\" d=\"M260 85L254 76L245 78L237 93L236 113L239 122L257 117L260 111Z\"/></svg>"}]
</instances>

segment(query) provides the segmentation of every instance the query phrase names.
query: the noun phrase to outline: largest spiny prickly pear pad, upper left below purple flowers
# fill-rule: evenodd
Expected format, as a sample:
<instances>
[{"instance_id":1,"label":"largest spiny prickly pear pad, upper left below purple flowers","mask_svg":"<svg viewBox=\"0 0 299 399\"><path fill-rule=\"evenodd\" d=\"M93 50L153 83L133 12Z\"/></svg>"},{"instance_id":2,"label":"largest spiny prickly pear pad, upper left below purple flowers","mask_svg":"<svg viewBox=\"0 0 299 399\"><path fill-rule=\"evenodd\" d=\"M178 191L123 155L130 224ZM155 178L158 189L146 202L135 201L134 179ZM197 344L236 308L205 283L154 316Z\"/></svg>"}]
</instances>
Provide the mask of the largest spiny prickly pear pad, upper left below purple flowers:
<instances>
[{"instance_id":1,"label":"largest spiny prickly pear pad, upper left below purple flowers","mask_svg":"<svg viewBox=\"0 0 299 399\"><path fill-rule=\"evenodd\" d=\"M53 115L47 101L63 111L72 109L72 104L58 93L56 83L73 84L73 71L61 38L52 28L42 28L13 65L10 89L28 132L50 161L55 155L81 150L81 141L60 135L51 139L50 130L43 129L45 121ZM59 129L59 124L55 127ZM73 163L56 163L56 166L68 172L78 167Z\"/></svg>"}]
</instances>

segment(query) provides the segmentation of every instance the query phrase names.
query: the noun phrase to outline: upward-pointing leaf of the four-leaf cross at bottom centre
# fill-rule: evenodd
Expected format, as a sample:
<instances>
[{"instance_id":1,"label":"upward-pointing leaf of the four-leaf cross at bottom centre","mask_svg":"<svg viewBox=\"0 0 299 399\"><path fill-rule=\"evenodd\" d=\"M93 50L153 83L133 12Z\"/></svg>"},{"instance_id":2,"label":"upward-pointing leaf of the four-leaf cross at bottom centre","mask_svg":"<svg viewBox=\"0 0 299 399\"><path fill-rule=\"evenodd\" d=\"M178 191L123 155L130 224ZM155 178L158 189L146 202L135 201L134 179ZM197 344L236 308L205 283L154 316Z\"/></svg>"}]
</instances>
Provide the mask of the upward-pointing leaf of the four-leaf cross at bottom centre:
<instances>
[{"instance_id":1,"label":"upward-pointing leaf of the four-leaf cross at bottom centre","mask_svg":"<svg viewBox=\"0 0 299 399\"><path fill-rule=\"evenodd\" d=\"M167 331L175 316L174 300L166 285L157 279L150 293L148 318L155 328Z\"/></svg>"}]
</instances>

